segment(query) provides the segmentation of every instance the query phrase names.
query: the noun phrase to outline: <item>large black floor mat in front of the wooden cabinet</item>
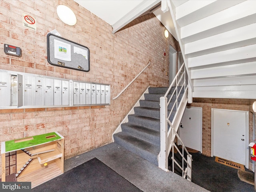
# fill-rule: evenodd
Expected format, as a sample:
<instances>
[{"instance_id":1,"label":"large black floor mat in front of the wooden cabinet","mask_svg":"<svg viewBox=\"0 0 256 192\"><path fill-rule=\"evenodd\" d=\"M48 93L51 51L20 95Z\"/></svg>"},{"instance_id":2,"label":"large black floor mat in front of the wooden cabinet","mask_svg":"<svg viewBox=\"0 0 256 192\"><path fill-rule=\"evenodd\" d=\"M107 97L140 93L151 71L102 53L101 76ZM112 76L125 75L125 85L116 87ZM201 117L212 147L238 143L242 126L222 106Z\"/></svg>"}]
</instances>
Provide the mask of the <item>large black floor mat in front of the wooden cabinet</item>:
<instances>
[{"instance_id":1,"label":"large black floor mat in front of the wooden cabinet","mask_svg":"<svg viewBox=\"0 0 256 192\"><path fill-rule=\"evenodd\" d=\"M33 192L142 192L106 164L93 158L49 180Z\"/></svg>"}]
</instances>

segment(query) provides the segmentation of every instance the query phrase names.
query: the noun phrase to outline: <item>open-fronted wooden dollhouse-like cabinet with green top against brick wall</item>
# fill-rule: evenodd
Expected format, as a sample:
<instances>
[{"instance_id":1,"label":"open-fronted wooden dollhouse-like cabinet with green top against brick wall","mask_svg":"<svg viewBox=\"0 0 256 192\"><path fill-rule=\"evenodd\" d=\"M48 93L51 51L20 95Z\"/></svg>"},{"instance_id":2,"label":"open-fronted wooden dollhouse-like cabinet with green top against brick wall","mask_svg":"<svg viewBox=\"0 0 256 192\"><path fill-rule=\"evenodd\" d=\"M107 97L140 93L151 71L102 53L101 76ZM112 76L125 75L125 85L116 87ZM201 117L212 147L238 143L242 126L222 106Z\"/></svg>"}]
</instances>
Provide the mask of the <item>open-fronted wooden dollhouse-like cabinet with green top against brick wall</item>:
<instances>
[{"instance_id":1,"label":"open-fronted wooden dollhouse-like cabinet with green top against brick wall","mask_svg":"<svg viewBox=\"0 0 256 192\"><path fill-rule=\"evenodd\" d=\"M5 154L16 151L16 179L36 187L64 172L64 137L58 132L2 142L2 181Z\"/></svg>"}]
</instances>

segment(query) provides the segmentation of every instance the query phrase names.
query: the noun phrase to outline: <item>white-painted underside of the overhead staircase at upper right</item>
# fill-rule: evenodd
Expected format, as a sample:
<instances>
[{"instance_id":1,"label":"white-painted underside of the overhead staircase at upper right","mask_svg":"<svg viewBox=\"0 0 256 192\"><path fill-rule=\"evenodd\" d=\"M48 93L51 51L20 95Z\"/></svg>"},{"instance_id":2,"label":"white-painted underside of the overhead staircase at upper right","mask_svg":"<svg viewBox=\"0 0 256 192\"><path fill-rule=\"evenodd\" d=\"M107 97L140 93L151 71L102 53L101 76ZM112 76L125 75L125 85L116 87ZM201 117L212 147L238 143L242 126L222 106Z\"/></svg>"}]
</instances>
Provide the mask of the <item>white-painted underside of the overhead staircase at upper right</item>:
<instances>
[{"instance_id":1,"label":"white-painted underside of the overhead staircase at upper right","mask_svg":"<svg viewBox=\"0 0 256 192\"><path fill-rule=\"evenodd\" d=\"M256 95L256 1L167 0L192 98Z\"/></svg>"}]
</instances>

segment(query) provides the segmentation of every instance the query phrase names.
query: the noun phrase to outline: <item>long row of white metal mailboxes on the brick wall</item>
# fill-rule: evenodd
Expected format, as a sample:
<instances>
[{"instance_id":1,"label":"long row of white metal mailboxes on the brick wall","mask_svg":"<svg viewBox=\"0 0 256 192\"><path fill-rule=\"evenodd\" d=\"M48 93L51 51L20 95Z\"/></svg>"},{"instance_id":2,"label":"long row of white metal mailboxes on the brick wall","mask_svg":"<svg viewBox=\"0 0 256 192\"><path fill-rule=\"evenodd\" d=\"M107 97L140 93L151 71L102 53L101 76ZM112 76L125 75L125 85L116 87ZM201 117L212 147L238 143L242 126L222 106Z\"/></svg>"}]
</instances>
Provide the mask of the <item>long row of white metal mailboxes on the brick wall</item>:
<instances>
[{"instance_id":1,"label":"long row of white metal mailboxes on the brick wall","mask_svg":"<svg viewBox=\"0 0 256 192\"><path fill-rule=\"evenodd\" d=\"M0 107L110 104L109 90L105 84L0 72Z\"/></svg>"}]
</instances>

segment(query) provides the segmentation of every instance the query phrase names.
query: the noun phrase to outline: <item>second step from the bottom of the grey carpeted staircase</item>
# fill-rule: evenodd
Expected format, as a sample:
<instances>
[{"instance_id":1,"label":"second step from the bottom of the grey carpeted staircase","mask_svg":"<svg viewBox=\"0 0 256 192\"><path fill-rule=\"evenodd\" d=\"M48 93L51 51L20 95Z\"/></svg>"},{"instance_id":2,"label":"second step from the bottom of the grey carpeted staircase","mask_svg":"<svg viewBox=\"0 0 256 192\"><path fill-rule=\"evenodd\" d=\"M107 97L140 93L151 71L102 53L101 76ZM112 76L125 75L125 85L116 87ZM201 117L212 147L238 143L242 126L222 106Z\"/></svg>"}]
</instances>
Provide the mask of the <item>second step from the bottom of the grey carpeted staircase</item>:
<instances>
[{"instance_id":1,"label":"second step from the bottom of the grey carpeted staircase","mask_svg":"<svg viewBox=\"0 0 256 192\"><path fill-rule=\"evenodd\" d=\"M150 142L151 144L160 146L160 129L153 130L143 126L138 126L131 123L124 123L121 125L122 132L128 133L131 136L140 138L146 142Z\"/></svg>"}]
</instances>

